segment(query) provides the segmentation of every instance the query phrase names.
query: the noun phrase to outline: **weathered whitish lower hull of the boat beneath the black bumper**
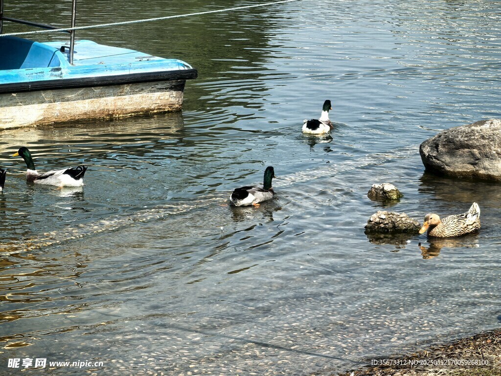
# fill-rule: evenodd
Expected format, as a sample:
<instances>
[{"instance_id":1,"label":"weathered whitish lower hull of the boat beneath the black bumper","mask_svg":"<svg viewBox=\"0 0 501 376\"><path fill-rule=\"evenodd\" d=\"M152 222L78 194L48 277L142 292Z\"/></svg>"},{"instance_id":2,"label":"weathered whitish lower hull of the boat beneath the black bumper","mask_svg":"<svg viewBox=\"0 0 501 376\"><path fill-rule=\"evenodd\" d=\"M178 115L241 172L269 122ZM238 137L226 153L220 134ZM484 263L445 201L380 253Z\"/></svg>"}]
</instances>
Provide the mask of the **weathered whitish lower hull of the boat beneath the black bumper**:
<instances>
[{"instance_id":1,"label":"weathered whitish lower hull of the boat beneath the black bumper","mask_svg":"<svg viewBox=\"0 0 501 376\"><path fill-rule=\"evenodd\" d=\"M0 129L179 111L184 80L0 94Z\"/></svg>"}]
</instances>

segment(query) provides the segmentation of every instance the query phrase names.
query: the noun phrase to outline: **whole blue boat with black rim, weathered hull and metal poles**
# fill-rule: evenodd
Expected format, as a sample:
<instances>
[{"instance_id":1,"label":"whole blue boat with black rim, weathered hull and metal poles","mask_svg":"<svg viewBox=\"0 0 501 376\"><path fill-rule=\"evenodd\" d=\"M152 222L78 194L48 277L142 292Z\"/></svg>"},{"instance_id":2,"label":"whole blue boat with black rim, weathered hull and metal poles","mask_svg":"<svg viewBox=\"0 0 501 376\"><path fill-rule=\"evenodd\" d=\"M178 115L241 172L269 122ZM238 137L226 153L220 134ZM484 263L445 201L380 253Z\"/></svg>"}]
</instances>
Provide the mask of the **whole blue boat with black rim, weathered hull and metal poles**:
<instances>
[{"instance_id":1,"label":"whole blue boat with black rim, weathered hull and metal poles","mask_svg":"<svg viewBox=\"0 0 501 376\"><path fill-rule=\"evenodd\" d=\"M197 71L164 59L92 41L35 42L2 36L5 21L59 28L6 17L0 0L0 129L178 111L185 81ZM73 0L72 27L75 27Z\"/></svg>"}]
</instances>

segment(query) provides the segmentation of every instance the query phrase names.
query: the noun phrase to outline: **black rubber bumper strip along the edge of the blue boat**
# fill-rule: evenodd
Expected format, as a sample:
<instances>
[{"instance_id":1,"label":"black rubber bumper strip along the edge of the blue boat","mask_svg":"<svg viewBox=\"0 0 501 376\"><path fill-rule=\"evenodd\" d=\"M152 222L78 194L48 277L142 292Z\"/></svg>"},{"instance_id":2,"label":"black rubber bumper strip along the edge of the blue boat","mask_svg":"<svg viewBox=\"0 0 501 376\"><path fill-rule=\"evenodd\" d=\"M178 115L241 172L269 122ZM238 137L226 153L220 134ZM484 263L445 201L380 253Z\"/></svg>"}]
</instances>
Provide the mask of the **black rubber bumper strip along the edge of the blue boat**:
<instances>
[{"instance_id":1,"label":"black rubber bumper strip along the edge of the blue boat","mask_svg":"<svg viewBox=\"0 0 501 376\"><path fill-rule=\"evenodd\" d=\"M61 69L61 68L54 68ZM167 72L131 73L115 76L61 78L56 80L0 84L0 94L28 91L73 89L95 86L127 85L141 82L179 81L198 77L196 69Z\"/></svg>"}]
</instances>

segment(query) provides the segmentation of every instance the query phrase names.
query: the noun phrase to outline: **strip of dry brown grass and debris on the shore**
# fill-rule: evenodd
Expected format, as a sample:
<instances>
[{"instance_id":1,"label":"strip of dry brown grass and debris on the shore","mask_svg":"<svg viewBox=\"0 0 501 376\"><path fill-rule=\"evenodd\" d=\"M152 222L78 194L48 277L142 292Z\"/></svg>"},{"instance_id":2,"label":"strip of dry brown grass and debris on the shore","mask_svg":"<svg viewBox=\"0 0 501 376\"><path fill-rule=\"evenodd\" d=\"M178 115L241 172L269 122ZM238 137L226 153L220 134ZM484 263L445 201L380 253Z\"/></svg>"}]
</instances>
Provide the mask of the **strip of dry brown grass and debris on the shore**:
<instances>
[{"instance_id":1,"label":"strip of dry brown grass and debris on the shore","mask_svg":"<svg viewBox=\"0 0 501 376\"><path fill-rule=\"evenodd\" d=\"M341 376L501 376L501 329L379 360L381 364Z\"/></svg>"}]
</instances>

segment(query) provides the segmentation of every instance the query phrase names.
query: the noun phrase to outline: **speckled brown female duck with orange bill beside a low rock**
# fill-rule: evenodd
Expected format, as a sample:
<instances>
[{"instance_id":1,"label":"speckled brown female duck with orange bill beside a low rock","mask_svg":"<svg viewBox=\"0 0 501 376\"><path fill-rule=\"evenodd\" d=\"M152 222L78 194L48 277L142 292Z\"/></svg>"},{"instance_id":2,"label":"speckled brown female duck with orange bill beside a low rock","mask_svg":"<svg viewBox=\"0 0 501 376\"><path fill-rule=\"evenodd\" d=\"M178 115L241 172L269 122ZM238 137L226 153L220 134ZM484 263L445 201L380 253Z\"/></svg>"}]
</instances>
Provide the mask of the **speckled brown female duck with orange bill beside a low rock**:
<instances>
[{"instance_id":1,"label":"speckled brown female duck with orange bill beside a low rock","mask_svg":"<svg viewBox=\"0 0 501 376\"><path fill-rule=\"evenodd\" d=\"M428 231L428 236L449 238L466 235L478 229L480 229L480 208L477 203L473 203L466 213L448 216L443 220L434 213L427 214L419 234Z\"/></svg>"}]
</instances>

